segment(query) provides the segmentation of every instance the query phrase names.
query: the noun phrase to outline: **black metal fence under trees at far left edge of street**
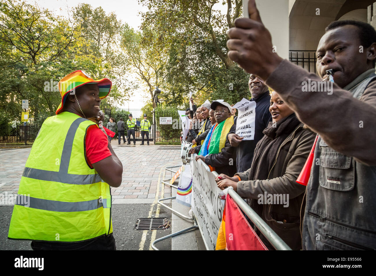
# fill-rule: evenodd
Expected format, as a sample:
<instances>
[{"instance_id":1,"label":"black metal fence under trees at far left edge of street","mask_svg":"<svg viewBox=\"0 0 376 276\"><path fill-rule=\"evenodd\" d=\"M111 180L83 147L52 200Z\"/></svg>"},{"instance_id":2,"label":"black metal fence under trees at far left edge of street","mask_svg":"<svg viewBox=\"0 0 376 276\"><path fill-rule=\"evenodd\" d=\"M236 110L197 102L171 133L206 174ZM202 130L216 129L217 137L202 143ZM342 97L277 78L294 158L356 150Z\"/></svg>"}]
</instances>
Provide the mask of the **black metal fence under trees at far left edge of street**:
<instances>
[{"instance_id":1,"label":"black metal fence under trees at far left edge of street","mask_svg":"<svg viewBox=\"0 0 376 276\"><path fill-rule=\"evenodd\" d=\"M0 143L27 143L35 140L41 125L9 124L0 125Z\"/></svg>"}]
</instances>

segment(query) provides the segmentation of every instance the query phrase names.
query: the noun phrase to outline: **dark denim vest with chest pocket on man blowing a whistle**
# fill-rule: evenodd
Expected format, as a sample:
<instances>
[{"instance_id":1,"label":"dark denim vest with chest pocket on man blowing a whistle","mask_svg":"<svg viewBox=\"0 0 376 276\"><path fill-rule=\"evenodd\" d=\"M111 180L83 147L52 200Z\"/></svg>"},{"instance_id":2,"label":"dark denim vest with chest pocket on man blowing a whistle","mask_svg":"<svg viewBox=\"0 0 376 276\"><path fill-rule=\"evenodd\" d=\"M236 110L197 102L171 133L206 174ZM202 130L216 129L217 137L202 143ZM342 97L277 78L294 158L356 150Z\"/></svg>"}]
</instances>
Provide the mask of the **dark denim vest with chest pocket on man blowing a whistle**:
<instances>
[{"instance_id":1,"label":"dark denim vest with chest pocket on man blowing a whistle","mask_svg":"<svg viewBox=\"0 0 376 276\"><path fill-rule=\"evenodd\" d=\"M351 89L360 98L372 75ZM330 148L318 137L303 219L303 250L376 249L376 167Z\"/></svg>"}]
</instances>

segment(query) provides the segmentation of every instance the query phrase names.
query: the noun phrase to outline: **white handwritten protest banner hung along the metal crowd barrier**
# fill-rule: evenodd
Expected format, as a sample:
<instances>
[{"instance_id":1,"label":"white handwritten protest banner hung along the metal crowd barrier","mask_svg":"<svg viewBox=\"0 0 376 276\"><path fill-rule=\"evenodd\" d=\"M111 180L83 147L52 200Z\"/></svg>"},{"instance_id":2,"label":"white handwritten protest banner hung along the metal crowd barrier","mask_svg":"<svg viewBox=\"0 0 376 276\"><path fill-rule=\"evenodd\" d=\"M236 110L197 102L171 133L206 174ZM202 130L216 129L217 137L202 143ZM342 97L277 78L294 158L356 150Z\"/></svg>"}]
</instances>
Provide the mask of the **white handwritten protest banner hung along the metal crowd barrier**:
<instances>
[{"instance_id":1,"label":"white handwritten protest banner hung along the metal crowd barrier","mask_svg":"<svg viewBox=\"0 0 376 276\"><path fill-rule=\"evenodd\" d=\"M209 250L214 250L222 221L224 200L219 198L223 192L217 187L214 175L207 169L209 168L201 160L191 161L191 208Z\"/></svg>"}]
</instances>

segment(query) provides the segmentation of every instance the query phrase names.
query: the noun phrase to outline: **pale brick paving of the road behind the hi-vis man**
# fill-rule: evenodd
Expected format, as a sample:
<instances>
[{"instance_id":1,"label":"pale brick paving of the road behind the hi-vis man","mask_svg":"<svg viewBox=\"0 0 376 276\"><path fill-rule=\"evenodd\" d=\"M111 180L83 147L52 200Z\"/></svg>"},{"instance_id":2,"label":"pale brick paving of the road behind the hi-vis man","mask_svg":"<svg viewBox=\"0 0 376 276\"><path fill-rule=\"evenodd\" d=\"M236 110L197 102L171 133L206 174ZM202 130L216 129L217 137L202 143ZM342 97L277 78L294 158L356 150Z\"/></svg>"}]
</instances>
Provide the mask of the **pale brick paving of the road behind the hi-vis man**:
<instances>
[{"instance_id":1,"label":"pale brick paving of the road behind the hi-vis man","mask_svg":"<svg viewBox=\"0 0 376 276\"><path fill-rule=\"evenodd\" d=\"M159 185L157 191L158 176L161 173L160 181L163 179L164 168L179 164L179 149L159 149L176 148L177 146L161 145L118 145L117 140L112 140L112 147L116 155L123 163L123 181L120 187L111 187L112 203L114 204L134 204L152 203L158 192L158 198L162 191ZM17 193L21 175L24 170L30 148L9 149L0 151L0 194ZM165 178L170 178L170 174ZM171 196L171 187L164 187L166 198Z\"/></svg>"}]
</instances>

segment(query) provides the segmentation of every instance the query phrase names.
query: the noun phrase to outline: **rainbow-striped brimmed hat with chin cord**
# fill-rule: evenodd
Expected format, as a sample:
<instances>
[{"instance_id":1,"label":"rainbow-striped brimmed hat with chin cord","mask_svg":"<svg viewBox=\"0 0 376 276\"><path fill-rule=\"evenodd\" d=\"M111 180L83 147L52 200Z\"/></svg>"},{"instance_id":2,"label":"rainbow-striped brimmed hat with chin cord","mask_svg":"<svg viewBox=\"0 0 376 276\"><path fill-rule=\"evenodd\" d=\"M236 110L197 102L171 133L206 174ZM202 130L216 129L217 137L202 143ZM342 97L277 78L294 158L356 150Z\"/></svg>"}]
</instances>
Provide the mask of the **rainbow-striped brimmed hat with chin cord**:
<instances>
[{"instance_id":1,"label":"rainbow-striped brimmed hat with chin cord","mask_svg":"<svg viewBox=\"0 0 376 276\"><path fill-rule=\"evenodd\" d=\"M56 110L56 115L58 115L63 110L65 100L69 92L74 89L83 86L85 84L96 83L99 87L99 98L102 100L110 94L112 82L108 78L101 78L100 80L93 80L91 77L86 75L81 70L74 71L59 81L59 92L61 95L61 103L59 104L58 110Z\"/></svg>"}]
</instances>

